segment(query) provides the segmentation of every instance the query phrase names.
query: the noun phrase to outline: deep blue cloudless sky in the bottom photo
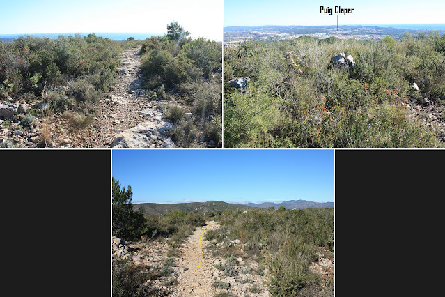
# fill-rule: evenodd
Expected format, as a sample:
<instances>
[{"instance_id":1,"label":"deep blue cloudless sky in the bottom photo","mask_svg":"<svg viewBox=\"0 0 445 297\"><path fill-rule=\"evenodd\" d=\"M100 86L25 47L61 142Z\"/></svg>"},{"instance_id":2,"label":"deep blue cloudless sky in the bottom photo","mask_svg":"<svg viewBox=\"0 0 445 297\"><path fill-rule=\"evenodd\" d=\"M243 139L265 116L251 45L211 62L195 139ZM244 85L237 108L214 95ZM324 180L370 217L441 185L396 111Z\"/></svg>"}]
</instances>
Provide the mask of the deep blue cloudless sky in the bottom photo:
<instances>
[{"instance_id":1,"label":"deep blue cloudless sky in the bottom photo","mask_svg":"<svg viewBox=\"0 0 445 297\"><path fill-rule=\"evenodd\" d=\"M113 150L112 159L134 204L334 201L333 150Z\"/></svg>"}]
</instances>

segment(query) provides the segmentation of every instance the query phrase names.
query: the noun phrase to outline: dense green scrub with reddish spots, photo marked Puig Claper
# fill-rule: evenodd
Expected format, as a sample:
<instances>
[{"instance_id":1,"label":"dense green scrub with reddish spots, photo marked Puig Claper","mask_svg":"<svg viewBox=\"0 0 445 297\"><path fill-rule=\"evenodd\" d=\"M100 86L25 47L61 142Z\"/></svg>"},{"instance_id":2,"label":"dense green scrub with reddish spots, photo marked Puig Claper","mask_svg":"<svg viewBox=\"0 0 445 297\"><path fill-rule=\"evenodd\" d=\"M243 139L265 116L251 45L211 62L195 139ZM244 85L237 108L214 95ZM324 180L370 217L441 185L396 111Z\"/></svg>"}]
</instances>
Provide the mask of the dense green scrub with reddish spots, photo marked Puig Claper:
<instances>
[{"instance_id":1,"label":"dense green scrub with reddish spots, photo marked Puig Claper","mask_svg":"<svg viewBox=\"0 0 445 297\"><path fill-rule=\"evenodd\" d=\"M339 52L354 68L332 67ZM228 84L235 77L250 78L245 90ZM444 133L405 107L428 98L444 121L444 82L445 36L433 31L338 47L336 38L245 40L224 49L224 146L443 147Z\"/></svg>"}]
</instances>

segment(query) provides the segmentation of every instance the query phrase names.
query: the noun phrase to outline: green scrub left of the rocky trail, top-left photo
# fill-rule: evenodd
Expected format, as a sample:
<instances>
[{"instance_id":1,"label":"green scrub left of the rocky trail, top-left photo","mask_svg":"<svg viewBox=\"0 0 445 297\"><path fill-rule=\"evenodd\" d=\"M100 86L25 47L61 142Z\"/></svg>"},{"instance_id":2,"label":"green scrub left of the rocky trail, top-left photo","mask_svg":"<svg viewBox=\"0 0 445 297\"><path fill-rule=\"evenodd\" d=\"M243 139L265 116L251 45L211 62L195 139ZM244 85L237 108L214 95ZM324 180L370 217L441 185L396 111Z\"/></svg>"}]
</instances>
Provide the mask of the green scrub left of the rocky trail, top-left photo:
<instances>
[{"instance_id":1,"label":"green scrub left of the rocky trail, top-left photo","mask_svg":"<svg viewBox=\"0 0 445 297\"><path fill-rule=\"evenodd\" d=\"M54 114L72 123L68 129L88 125L94 114L92 103L116 83L118 55L129 46L95 34L57 39L22 36L0 42L0 101L29 107L19 119L3 121L3 128L31 130L40 119L39 146L47 146L46 120Z\"/></svg>"}]
</instances>

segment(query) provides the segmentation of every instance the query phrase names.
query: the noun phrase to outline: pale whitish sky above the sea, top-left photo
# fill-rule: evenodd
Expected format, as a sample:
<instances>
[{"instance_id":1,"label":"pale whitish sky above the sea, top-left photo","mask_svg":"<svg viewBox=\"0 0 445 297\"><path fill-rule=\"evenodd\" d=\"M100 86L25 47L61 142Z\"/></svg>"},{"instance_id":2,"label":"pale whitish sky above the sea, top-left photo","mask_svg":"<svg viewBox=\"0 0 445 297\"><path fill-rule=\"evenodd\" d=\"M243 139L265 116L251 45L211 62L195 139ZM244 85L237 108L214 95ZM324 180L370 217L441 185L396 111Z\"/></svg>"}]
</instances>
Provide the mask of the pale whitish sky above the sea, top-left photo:
<instances>
[{"instance_id":1,"label":"pale whitish sky above the sea, top-left photo","mask_svg":"<svg viewBox=\"0 0 445 297\"><path fill-rule=\"evenodd\" d=\"M0 0L0 34L166 33L222 40L223 0Z\"/></svg>"}]
</instances>

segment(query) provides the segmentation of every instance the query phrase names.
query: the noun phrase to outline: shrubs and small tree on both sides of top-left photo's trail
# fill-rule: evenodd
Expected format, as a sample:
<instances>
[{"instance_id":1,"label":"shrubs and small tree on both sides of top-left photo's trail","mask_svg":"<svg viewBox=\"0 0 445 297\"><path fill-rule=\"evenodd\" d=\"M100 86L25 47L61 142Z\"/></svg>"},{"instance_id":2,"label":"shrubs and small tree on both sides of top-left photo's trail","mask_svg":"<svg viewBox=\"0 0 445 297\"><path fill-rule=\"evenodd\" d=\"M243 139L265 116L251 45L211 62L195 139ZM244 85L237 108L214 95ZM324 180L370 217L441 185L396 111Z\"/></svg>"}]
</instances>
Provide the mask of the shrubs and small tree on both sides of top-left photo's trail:
<instances>
[{"instance_id":1,"label":"shrubs and small tree on both sides of top-left photo's trail","mask_svg":"<svg viewBox=\"0 0 445 297\"><path fill-rule=\"evenodd\" d=\"M144 97L170 102L164 116L173 122L173 142L221 147L221 43L189 38L177 22L167 28L166 36L146 40L89 34L0 42L0 102L31 107L21 115L28 116L23 124L22 119L6 119L1 125L20 130L36 117L58 114L70 123L68 130L86 127L97 115L93 103L118 82L120 53L141 47ZM43 136L41 146L46 146L49 139Z\"/></svg>"}]
</instances>

